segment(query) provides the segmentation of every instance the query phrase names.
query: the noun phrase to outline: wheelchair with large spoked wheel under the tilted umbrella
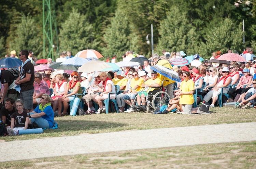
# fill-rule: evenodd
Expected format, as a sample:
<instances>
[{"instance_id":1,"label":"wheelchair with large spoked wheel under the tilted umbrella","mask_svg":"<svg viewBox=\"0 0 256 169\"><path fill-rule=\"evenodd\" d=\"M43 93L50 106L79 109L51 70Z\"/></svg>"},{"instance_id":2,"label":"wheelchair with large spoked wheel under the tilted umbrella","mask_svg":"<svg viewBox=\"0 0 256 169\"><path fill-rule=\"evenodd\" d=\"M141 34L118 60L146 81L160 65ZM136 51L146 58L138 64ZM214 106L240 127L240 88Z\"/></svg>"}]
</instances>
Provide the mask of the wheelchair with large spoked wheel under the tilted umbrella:
<instances>
[{"instance_id":1,"label":"wheelchair with large spoked wheel under the tilted umbrella","mask_svg":"<svg viewBox=\"0 0 256 169\"><path fill-rule=\"evenodd\" d=\"M164 81L167 81L167 80L164 80ZM160 88L155 88L155 90L148 92L148 95L146 95L144 97L144 98L146 98L145 101L143 101L144 98L141 98L141 100L142 100L141 105L142 105L142 103L146 102L146 111L145 111L146 113L156 111L156 109L158 107L160 107L162 105L169 104L170 96L164 90L165 89L163 89L163 81L162 81ZM137 98L137 96L136 96L136 98ZM137 100L137 99L134 99L132 105L134 105L134 102L137 102L135 100ZM141 105L138 105L138 106L141 106Z\"/></svg>"}]
</instances>

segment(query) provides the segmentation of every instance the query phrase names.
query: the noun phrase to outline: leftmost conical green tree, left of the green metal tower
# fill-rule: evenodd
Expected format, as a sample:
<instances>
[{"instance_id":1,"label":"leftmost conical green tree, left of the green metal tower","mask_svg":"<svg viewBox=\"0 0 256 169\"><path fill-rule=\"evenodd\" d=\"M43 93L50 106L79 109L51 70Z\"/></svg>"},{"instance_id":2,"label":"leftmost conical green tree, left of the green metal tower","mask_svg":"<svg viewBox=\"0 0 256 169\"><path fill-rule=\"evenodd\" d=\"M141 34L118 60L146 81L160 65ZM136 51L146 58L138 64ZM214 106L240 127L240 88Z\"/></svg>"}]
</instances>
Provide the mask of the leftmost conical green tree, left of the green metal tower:
<instances>
[{"instance_id":1,"label":"leftmost conical green tree, left of the green metal tower","mask_svg":"<svg viewBox=\"0 0 256 169\"><path fill-rule=\"evenodd\" d=\"M15 50L16 54L22 50L32 50L35 55L42 54L42 31L31 16L24 16L17 25L16 36L10 42L10 50Z\"/></svg>"}]
</instances>

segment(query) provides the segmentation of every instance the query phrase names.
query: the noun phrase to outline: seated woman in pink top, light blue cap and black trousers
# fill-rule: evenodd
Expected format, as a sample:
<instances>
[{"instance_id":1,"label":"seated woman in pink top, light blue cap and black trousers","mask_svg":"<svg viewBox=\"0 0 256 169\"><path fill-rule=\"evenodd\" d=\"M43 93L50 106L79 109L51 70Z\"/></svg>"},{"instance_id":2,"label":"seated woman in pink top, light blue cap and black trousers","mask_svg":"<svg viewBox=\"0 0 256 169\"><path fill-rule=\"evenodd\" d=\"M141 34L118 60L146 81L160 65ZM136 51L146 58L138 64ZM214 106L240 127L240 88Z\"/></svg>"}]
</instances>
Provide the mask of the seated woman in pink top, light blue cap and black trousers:
<instances>
[{"instance_id":1,"label":"seated woman in pink top, light blue cap and black trousers","mask_svg":"<svg viewBox=\"0 0 256 169\"><path fill-rule=\"evenodd\" d=\"M245 85L248 85L251 80L252 80L252 76L250 76L250 70L249 69L244 69L242 71L242 73L244 74L244 76L242 76L237 84L236 88L231 89L228 93L230 94L230 96L232 98L234 98L234 100L237 100L240 97L240 94L242 93L242 90L244 88Z\"/></svg>"}]
</instances>

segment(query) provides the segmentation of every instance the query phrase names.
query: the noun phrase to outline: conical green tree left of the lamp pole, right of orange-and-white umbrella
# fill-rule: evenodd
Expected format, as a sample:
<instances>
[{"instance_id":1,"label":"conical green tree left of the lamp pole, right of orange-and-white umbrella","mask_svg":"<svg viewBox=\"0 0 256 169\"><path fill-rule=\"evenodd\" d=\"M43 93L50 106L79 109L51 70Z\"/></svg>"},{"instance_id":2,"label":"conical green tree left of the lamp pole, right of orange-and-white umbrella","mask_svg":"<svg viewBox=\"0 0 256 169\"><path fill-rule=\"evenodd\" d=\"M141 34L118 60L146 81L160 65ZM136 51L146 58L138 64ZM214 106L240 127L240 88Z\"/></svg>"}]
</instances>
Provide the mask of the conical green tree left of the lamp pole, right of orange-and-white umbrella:
<instances>
[{"instance_id":1,"label":"conical green tree left of the lamp pole, right of orange-and-white umbrella","mask_svg":"<svg viewBox=\"0 0 256 169\"><path fill-rule=\"evenodd\" d=\"M104 35L106 46L103 49L103 55L116 55L117 60L120 60L128 50L137 52L139 50L138 36L133 33L133 29L133 23L129 21L123 11L117 10Z\"/></svg>"}]
</instances>

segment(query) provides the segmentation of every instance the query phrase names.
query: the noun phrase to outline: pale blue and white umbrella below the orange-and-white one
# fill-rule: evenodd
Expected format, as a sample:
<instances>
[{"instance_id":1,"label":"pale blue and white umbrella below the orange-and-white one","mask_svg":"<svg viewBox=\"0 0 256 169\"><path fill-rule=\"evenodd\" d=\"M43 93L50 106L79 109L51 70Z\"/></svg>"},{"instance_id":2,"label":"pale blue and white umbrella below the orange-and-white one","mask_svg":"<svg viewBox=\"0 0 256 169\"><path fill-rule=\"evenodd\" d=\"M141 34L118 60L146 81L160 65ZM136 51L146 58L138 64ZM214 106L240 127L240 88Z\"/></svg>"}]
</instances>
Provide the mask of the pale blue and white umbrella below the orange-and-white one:
<instances>
[{"instance_id":1,"label":"pale blue and white umbrella below the orange-and-white one","mask_svg":"<svg viewBox=\"0 0 256 169\"><path fill-rule=\"evenodd\" d=\"M82 58L82 57L72 57L72 58L69 58L69 59L63 61L62 63L60 63L60 65L58 66L57 69L77 71L77 69L79 67L81 67L83 64L85 64L87 62L89 62L89 60L87 60L85 58Z\"/></svg>"}]
</instances>

